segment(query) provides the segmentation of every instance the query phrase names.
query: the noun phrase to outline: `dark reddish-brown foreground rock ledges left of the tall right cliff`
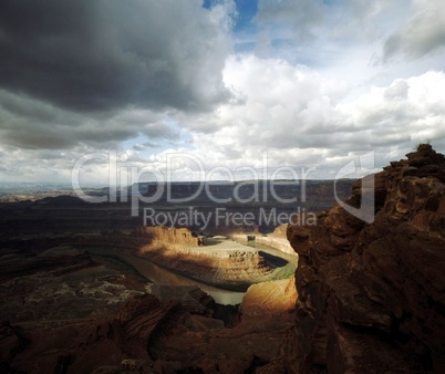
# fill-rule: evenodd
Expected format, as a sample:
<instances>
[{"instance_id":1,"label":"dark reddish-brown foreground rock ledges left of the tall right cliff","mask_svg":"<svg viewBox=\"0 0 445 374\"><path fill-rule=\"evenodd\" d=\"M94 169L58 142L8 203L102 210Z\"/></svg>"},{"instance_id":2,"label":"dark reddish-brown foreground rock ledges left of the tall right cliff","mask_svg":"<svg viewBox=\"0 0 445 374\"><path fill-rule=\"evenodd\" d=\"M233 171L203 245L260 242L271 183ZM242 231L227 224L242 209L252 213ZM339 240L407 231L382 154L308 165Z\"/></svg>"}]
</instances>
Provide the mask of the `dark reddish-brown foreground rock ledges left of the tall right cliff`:
<instances>
[{"instance_id":1,"label":"dark reddish-brown foreground rock ledges left of the tall right cliff","mask_svg":"<svg viewBox=\"0 0 445 374\"><path fill-rule=\"evenodd\" d=\"M275 304L287 289L269 292L263 304ZM276 305L273 316L256 313L255 319L225 329L221 321L194 314L178 301L141 294L125 302L114 318L20 326L2 322L0 368L2 373L242 374L277 355L291 324L292 315Z\"/></svg>"}]
</instances>

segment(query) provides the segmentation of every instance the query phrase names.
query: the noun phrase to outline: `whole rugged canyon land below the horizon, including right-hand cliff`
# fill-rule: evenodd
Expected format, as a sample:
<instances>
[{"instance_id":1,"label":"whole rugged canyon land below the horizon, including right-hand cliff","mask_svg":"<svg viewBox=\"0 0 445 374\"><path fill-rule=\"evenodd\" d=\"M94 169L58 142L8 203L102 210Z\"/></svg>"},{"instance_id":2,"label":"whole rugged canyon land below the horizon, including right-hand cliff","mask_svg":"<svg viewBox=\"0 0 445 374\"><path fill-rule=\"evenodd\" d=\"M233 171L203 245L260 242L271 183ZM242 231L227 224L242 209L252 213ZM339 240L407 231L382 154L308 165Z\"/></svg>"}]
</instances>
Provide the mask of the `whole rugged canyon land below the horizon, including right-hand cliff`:
<instances>
[{"instance_id":1,"label":"whole rugged canyon land below the horizon, including right-hand cliff","mask_svg":"<svg viewBox=\"0 0 445 374\"><path fill-rule=\"evenodd\" d=\"M1 371L443 373L445 157L423 144L348 183L344 202L310 202L317 225L211 235L75 197L0 205ZM343 206L366 201L369 222ZM234 284L238 305L211 297Z\"/></svg>"}]
</instances>

